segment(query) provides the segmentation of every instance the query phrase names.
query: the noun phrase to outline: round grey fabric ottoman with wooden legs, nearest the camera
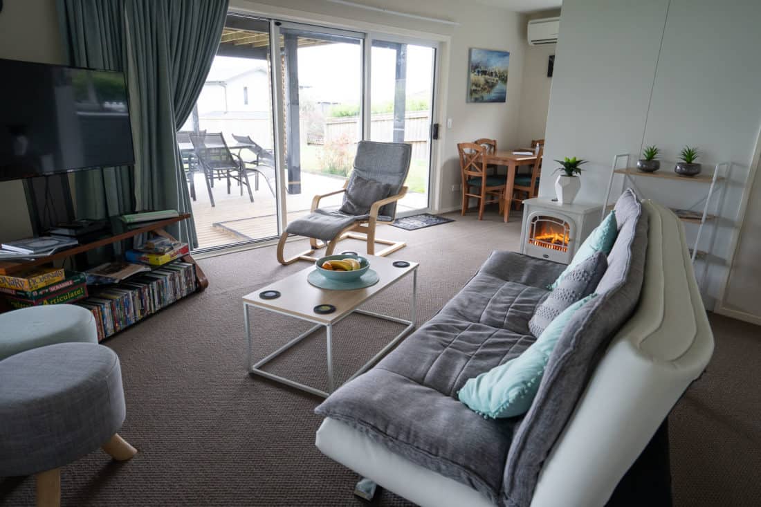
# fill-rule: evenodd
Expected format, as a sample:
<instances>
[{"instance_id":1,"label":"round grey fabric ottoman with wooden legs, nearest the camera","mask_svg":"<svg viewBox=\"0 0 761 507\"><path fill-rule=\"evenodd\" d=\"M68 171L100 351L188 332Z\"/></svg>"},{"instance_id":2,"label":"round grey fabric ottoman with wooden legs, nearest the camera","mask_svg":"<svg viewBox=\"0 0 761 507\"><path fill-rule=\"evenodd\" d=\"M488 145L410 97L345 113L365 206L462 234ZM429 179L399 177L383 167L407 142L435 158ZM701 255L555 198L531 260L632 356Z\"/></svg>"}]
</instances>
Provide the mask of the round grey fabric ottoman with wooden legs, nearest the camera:
<instances>
[{"instance_id":1,"label":"round grey fabric ottoman with wooden legs, nearest the camera","mask_svg":"<svg viewBox=\"0 0 761 507\"><path fill-rule=\"evenodd\" d=\"M96 343L60 343L0 361L0 477L37 474L37 505L58 505L59 467L98 447L135 449L116 431L126 409L119 358Z\"/></svg>"}]
</instances>

